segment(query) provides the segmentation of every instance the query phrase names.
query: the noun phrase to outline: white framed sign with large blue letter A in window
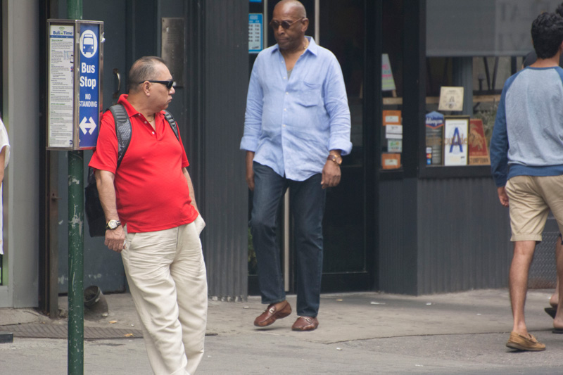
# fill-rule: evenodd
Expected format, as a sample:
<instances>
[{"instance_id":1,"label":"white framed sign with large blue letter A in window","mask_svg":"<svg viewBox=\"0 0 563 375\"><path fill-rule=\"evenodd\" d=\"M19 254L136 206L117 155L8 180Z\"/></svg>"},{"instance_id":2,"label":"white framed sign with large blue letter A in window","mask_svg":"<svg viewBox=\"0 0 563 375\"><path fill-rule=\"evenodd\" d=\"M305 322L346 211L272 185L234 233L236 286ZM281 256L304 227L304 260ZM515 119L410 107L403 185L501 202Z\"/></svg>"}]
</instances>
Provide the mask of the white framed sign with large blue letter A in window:
<instances>
[{"instance_id":1,"label":"white framed sign with large blue letter A in window","mask_svg":"<svg viewBox=\"0 0 563 375\"><path fill-rule=\"evenodd\" d=\"M469 116L444 118L444 165L467 165L467 136Z\"/></svg>"}]
</instances>

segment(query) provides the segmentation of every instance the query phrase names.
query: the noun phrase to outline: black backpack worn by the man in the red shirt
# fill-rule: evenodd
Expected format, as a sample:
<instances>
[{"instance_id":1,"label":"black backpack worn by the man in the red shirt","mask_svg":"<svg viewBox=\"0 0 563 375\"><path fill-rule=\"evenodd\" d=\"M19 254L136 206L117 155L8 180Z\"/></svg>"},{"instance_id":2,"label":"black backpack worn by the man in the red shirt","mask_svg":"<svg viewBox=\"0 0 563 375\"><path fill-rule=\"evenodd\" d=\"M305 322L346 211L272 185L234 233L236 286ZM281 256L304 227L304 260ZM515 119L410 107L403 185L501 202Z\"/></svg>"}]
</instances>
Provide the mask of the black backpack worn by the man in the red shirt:
<instances>
[{"instance_id":1,"label":"black backpack worn by the man in the red shirt","mask_svg":"<svg viewBox=\"0 0 563 375\"><path fill-rule=\"evenodd\" d=\"M127 115L127 111L122 104L115 104L115 106L111 106L109 110L113 115L113 120L115 120L115 134L118 136L119 168L121 160L123 160L125 151L127 151L127 147L129 147L129 142L131 141L131 121L129 121L129 115ZM170 124L172 131L179 141L178 127L174 117L167 111L164 112L164 117L168 121L168 124ZM84 211L86 212L86 220L88 221L89 234L91 237L105 236L106 215L103 214L103 209L101 208L98 186L96 186L96 176L94 175L94 168L92 167L88 168L88 180L84 194Z\"/></svg>"}]
</instances>

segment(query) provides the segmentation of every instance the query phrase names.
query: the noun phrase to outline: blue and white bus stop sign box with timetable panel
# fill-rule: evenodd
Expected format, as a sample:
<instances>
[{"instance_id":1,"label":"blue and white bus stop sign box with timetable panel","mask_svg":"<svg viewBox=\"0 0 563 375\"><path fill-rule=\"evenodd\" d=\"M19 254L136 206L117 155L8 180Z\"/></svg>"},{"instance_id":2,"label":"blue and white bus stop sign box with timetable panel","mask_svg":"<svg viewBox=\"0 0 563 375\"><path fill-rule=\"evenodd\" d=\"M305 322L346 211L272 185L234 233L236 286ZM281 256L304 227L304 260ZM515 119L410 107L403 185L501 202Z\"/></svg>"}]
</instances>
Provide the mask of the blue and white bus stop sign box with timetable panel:
<instances>
[{"instance_id":1,"label":"blue and white bus stop sign box with timetable panel","mask_svg":"<svg viewBox=\"0 0 563 375\"><path fill-rule=\"evenodd\" d=\"M47 149L96 147L103 71L103 22L49 20Z\"/></svg>"}]
</instances>

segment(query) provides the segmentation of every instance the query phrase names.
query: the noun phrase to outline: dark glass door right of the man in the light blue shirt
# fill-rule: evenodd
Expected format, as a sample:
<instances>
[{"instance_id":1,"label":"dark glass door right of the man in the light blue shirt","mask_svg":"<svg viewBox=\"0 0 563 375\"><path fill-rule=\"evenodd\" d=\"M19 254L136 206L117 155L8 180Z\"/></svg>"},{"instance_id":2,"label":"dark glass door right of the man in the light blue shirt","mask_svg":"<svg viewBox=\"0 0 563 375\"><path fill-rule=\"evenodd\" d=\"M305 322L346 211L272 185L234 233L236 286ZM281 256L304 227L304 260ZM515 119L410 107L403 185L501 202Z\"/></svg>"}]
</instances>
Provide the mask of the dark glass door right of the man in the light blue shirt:
<instances>
[{"instance_id":1,"label":"dark glass door right of the man in the light blue shirt","mask_svg":"<svg viewBox=\"0 0 563 375\"><path fill-rule=\"evenodd\" d=\"M341 182L327 191L324 214L322 290L365 291L370 288L367 254L366 147L364 124L364 0L315 1L315 41L338 59L352 122L352 152L343 158ZM312 30L310 30L312 32Z\"/></svg>"}]
</instances>

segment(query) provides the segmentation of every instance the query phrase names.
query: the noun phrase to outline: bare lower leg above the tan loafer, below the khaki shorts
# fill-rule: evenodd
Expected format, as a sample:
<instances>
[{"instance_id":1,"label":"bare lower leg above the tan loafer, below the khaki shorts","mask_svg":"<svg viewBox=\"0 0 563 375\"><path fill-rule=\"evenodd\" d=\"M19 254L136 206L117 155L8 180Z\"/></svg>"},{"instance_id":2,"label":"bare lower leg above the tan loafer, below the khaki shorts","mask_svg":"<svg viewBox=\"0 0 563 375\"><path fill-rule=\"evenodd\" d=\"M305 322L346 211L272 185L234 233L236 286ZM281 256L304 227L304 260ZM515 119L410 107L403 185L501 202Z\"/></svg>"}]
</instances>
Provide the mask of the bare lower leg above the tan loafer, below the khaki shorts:
<instances>
[{"instance_id":1,"label":"bare lower leg above the tan loafer, below the khaki shorts","mask_svg":"<svg viewBox=\"0 0 563 375\"><path fill-rule=\"evenodd\" d=\"M528 292L528 272L535 248L536 241L514 242L514 256L512 257L509 274L510 303L512 305L512 316L514 317L512 331L526 337L528 337L528 329L526 329L526 322L524 321L524 304L526 303L526 293Z\"/></svg>"}]
</instances>

